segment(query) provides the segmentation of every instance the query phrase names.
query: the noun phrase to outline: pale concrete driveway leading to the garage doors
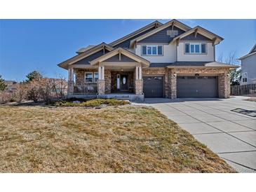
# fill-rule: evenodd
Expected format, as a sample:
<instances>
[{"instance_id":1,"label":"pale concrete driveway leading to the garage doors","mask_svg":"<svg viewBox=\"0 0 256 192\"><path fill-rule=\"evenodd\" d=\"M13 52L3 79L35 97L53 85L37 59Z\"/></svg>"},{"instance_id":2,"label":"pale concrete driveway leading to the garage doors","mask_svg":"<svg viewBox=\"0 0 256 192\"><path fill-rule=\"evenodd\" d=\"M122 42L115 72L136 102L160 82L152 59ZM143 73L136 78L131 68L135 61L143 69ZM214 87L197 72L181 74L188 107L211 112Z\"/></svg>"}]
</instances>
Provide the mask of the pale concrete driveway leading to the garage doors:
<instances>
[{"instance_id":1,"label":"pale concrete driveway leading to the garage doors","mask_svg":"<svg viewBox=\"0 0 256 192\"><path fill-rule=\"evenodd\" d=\"M256 172L256 102L242 99L154 98L145 102L206 144L238 172ZM255 112L248 116L231 111L234 109Z\"/></svg>"}]
</instances>

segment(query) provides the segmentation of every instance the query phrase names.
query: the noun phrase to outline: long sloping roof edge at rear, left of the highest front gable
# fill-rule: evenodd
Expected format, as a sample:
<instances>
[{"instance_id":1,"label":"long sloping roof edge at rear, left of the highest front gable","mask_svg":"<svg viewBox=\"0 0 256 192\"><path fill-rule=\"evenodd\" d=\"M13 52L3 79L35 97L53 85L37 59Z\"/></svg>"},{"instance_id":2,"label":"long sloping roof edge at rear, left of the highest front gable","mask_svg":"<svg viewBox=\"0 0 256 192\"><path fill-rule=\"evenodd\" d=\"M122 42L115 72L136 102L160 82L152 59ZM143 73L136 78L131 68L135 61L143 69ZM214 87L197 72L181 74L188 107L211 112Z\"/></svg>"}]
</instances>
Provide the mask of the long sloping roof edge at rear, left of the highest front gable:
<instances>
[{"instance_id":1,"label":"long sloping roof edge at rear, left of the highest front gable","mask_svg":"<svg viewBox=\"0 0 256 192\"><path fill-rule=\"evenodd\" d=\"M147 31L147 29L150 29L151 27L159 27L163 25L161 22L158 20L151 22L149 25L146 25L145 27L142 27L140 29L137 29L135 32L128 34L126 36L123 36L120 39L117 39L116 41L113 41L112 43L109 43L109 46L116 46L119 43L122 43L123 41L126 41L127 39L133 38L133 36L136 36L137 34L140 34L144 31Z\"/></svg>"}]
</instances>

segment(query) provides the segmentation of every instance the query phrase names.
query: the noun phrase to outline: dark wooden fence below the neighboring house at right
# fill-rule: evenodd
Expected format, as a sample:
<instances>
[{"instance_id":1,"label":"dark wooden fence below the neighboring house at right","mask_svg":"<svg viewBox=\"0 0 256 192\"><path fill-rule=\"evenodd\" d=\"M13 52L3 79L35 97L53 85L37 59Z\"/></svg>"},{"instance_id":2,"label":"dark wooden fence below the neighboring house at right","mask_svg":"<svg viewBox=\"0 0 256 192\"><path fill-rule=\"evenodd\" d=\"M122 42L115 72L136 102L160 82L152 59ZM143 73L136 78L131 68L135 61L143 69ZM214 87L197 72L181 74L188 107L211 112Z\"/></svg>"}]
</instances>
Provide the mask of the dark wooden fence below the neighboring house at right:
<instances>
[{"instance_id":1,"label":"dark wooden fence below the neighboring house at right","mask_svg":"<svg viewBox=\"0 0 256 192\"><path fill-rule=\"evenodd\" d=\"M256 83L248 85L234 85L230 87L230 95L256 94Z\"/></svg>"}]
</instances>

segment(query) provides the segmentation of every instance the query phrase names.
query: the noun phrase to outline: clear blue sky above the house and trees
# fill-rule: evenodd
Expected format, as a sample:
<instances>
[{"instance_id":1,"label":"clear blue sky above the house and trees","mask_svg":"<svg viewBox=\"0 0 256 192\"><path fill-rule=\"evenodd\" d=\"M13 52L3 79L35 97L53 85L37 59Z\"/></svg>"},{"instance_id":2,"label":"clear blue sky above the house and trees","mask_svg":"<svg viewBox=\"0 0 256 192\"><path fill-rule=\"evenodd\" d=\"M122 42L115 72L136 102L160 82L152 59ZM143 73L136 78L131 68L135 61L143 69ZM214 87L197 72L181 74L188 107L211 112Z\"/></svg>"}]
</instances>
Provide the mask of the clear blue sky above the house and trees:
<instances>
[{"instance_id":1,"label":"clear blue sky above the house and trees","mask_svg":"<svg viewBox=\"0 0 256 192\"><path fill-rule=\"evenodd\" d=\"M110 43L154 20L0 20L0 74L6 80L22 81L29 71L56 77L67 71L58 63L76 55L76 50L104 41ZM167 22L168 20L159 20ZM180 20L190 27L200 25L224 38L216 58L236 51L247 54L256 43L256 20Z\"/></svg>"}]
</instances>

